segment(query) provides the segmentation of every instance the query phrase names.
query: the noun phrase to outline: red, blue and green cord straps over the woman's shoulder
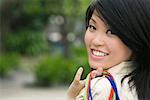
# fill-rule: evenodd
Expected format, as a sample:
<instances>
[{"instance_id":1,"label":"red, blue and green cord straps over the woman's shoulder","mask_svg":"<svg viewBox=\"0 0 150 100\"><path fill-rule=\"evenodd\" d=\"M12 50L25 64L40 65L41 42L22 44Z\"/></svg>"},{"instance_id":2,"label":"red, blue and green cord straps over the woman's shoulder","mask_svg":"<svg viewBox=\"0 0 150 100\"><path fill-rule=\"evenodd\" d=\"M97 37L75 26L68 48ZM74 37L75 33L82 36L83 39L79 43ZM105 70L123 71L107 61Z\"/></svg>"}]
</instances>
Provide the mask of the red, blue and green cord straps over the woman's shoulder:
<instances>
[{"instance_id":1,"label":"red, blue and green cord straps over the woman's shoulder","mask_svg":"<svg viewBox=\"0 0 150 100\"><path fill-rule=\"evenodd\" d=\"M109 80L112 86L108 100L120 100L118 96L117 86L116 86L113 76L107 71L104 71L103 75ZM91 92L91 79L92 78L91 78L91 73L90 73L88 74L87 79L86 79L86 85L85 85L86 91L84 93L84 100L93 100L92 92Z\"/></svg>"}]
</instances>

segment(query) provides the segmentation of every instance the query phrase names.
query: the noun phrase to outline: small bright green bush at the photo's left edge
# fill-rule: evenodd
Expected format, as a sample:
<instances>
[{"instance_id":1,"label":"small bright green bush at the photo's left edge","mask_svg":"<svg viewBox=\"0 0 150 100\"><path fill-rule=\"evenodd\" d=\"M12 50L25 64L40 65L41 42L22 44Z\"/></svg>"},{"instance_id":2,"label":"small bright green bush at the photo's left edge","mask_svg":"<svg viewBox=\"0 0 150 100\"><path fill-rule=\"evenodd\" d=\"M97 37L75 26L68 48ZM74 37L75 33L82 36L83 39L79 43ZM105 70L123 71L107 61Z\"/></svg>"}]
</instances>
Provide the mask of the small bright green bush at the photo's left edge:
<instances>
[{"instance_id":1,"label":"small bright green bush at the photo's left edge","mask_svg":"<svg viewBox=\"0 0 150 100\"><path fill-rule=\"evenodd\" d=\"M19 66L20 56L16 53L0 54L0 77L6 77Z\"/></svg>"}]
</instances>

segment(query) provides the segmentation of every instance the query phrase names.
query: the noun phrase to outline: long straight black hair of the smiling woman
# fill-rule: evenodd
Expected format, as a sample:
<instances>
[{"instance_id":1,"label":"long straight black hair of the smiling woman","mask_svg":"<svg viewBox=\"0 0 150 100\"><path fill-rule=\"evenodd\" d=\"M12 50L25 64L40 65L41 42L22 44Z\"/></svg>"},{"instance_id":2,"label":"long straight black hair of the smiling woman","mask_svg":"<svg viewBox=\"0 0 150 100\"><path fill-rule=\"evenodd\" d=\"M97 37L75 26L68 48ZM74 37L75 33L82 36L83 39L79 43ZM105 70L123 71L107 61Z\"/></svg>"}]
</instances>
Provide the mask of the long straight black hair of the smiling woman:
<instances>
[{"instance_id":1,"label":"long straight black hair of the smiling woman","mask_svg":"<svg viewBox=\"0 0 150 100\"><path fill-rule=\"evenodd\" d=\"M133 51L135 70L123 79L130 76L139 100L150 99L150 0L92 0L86 26L94 11Z\"/></svg>"}]
</instances>

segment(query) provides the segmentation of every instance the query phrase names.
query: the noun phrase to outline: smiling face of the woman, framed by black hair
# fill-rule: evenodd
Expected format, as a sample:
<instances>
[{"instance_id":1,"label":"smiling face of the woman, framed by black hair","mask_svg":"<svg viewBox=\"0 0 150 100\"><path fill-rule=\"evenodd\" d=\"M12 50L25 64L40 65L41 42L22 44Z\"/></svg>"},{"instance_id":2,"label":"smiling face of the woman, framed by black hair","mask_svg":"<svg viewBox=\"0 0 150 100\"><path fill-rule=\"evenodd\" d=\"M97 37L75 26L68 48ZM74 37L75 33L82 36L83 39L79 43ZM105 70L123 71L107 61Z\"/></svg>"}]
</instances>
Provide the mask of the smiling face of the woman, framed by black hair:
<instances>
[{"instance_id":1,"label":"smiling face of the woman, framed by black hair","mask_svg":"<svg viewBox=\"0 0 150 100\"><path fill-rule=\"evenodd\" d=\"M129 60L132 51L93 13L85 33L85 45L91 68L108 69Z\"/></svg>"}]
</instances>

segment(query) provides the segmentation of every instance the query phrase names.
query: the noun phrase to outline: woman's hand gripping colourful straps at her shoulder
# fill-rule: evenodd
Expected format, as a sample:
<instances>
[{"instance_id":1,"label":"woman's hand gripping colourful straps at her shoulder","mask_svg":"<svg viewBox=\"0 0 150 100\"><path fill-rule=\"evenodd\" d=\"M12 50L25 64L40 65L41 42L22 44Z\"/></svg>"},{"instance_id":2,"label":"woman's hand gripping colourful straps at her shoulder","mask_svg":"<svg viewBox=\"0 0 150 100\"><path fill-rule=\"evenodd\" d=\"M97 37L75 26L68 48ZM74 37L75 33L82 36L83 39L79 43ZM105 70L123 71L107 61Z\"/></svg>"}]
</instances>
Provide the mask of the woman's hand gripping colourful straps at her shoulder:
<instances>
[{"instance_id":1,"label":"woman's hand gripping colourful straps at her shoulder","mask_svg":"<svg viewBox=\"0 0 150 100\"><path fill-rule=\"evenodd\" d=\"M68 100L75 100L76 96L80 93L80 91L85 87L85 80L81 80L81 75L83 72L83 68L80 67L75 75L75 78L73 82L71 83L69 89L68 89ZM95 78L96 76L100 76L103 72L103 69L99 67L96 70L93 70L91 72L92 78Z\"/></svg>"}]
</instances>

